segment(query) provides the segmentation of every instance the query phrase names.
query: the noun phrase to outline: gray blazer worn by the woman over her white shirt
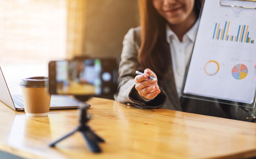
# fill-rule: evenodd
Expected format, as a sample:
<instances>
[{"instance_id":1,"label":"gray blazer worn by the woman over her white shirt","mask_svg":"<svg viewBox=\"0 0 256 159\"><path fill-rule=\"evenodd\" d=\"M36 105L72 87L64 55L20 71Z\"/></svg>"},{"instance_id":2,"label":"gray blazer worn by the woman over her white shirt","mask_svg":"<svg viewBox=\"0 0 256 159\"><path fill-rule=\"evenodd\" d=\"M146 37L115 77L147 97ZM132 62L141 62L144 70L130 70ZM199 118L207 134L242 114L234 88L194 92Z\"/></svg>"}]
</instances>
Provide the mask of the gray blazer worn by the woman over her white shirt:
<instances>
[{"instance_id":1,"label":"gray blazer worn by the woman over her white shirt","mask_svg":"<svg viewBox=\"0 0 256 159\"><path fill-rule=\"evenodd\" d=\"M161 93L153 100L146 101L139 96L135 89L135 71L139 68L137 55L141 44L140 27L131 28L124 37L121 62L119 65L118 92L114 95L115 100L122 103L130 103L140 109L165 108L203 115L211 115L221 118L236 120L248 120L246 117L254 116L255 109L229 106L202 100L178 98L173 75L172 64L167 67L166 77L160 87ZM170 51L166 41L164 45ZM171 54L171 53L170 53Z\"/></svg>"}]
</instances>

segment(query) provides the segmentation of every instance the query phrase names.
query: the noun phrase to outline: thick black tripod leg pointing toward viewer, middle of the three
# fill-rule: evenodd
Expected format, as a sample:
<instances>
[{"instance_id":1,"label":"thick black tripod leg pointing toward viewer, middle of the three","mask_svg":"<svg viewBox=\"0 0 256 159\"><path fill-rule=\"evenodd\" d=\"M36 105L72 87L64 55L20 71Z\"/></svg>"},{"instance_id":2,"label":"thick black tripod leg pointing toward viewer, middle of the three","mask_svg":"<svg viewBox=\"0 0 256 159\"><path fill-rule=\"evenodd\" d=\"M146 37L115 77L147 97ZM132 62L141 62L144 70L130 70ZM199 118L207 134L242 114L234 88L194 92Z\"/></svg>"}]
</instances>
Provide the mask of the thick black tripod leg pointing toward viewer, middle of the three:
<instances>
[{"instance_id":1,"label":"thick black tripod leg pointing toward viewer, middle of the three","mask_svg":"<svg viewBox=\"0 0 256 159\"><path fill-rule=\"evenodd\" d=\"M91 134L90 131L81 131L83 137L85 138L88 148L95 153L101 152L101 148L99 148L97 140L94 138L94 135Z\"/></svg>"}]
</instances>

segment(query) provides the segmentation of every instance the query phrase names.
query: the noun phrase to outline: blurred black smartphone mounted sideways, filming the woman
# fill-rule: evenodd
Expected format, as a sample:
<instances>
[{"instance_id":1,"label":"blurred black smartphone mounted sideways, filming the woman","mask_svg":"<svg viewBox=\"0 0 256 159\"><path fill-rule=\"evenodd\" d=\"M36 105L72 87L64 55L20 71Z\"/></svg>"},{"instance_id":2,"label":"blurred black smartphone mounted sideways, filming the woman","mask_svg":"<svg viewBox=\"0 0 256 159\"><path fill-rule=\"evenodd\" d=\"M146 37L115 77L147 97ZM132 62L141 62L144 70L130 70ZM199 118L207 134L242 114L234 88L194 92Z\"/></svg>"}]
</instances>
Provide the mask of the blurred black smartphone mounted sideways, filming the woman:
<instances>
[{"instance_id":1,"label":"blurred black smartphone mounted sideways, filming the woman","mask_svg":"<svg viewBox=\"0 0 256 159\"><path fill-rule=\"evenodd\" d=\"M113 58L49 62L49 93L109 95L117 91L118 66Z\"/></svg>"}]
</instances>

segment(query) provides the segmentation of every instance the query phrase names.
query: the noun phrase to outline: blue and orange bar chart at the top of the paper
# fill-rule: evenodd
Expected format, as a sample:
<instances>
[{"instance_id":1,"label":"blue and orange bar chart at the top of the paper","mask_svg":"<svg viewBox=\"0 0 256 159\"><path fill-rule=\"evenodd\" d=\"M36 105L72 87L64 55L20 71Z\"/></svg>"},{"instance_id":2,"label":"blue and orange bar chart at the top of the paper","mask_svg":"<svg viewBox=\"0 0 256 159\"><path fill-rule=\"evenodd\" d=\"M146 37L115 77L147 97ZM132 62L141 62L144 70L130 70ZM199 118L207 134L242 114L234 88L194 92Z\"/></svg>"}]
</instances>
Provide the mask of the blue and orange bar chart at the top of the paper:
<instances>
[{"instance_id":1,"label":"blue and orange bar chart at the top of the paper","mask_svg":"<svg viewBox=\"0 0 256 159\"><path fill-rule=\"evenodd\" d=\"M249 25L239 25L236 35L229 35L230 22L225 22L224 28L220 28L220 23L215 23L212 39L235 41L254 44L254 39L249 37Z\"/></svg>"}]
</instances>

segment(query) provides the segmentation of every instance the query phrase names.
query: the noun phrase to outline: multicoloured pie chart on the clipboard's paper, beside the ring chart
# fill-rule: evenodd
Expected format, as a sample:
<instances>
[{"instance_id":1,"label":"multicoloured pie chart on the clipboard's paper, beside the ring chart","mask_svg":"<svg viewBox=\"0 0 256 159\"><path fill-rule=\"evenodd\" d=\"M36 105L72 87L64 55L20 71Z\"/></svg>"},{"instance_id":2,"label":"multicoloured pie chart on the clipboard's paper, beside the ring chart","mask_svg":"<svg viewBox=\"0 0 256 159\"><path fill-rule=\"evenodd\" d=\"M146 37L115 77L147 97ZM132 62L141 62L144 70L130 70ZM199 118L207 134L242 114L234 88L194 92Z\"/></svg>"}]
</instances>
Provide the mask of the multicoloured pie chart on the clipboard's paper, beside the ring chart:
<instances>
[{"instance_id":1,"label":"multicoloured pie chart on the clipboard's paper, beside the ring chart","mask_svg":"<svg viewBox=\"0 0 256 159\"><path fill-rule=\"evenodd\" d=\"M248 74L248 68L244 64L237 64L232 69L232 76L237 80L241 80L245 78L247 74Z\"/></svg>"}]
</instances>

